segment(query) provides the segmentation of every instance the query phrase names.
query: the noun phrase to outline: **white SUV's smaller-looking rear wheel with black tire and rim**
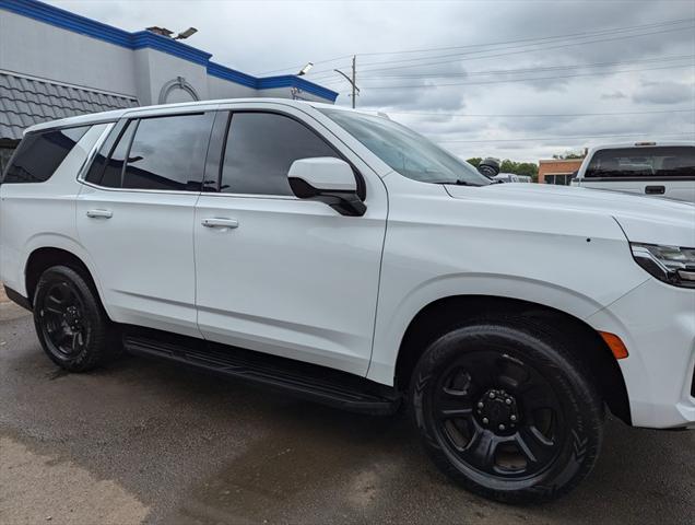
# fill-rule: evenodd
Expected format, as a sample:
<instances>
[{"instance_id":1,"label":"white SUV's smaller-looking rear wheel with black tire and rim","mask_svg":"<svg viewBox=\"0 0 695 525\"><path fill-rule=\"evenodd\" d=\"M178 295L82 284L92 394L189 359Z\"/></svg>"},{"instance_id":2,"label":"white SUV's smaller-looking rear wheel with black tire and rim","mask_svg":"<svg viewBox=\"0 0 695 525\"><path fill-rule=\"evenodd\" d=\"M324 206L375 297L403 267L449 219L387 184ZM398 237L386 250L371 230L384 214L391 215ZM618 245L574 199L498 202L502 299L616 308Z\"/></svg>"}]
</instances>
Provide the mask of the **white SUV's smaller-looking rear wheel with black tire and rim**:
<instances>
[{"instance_id":1,"label":"white SUV's smaller-looking rear wheel with black tire and rim","mask_svg":"<svg viewBox=\"0 0 695 525\"><path fill-rule=\"evenodd\" d=\"M34 326L44 351L69 372L86 372L110 357L113 327L87 281L72 268L42 273L34 293Z\"/></svg>"}]
</instances>

